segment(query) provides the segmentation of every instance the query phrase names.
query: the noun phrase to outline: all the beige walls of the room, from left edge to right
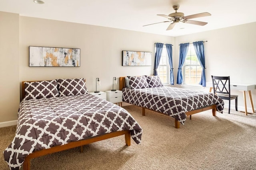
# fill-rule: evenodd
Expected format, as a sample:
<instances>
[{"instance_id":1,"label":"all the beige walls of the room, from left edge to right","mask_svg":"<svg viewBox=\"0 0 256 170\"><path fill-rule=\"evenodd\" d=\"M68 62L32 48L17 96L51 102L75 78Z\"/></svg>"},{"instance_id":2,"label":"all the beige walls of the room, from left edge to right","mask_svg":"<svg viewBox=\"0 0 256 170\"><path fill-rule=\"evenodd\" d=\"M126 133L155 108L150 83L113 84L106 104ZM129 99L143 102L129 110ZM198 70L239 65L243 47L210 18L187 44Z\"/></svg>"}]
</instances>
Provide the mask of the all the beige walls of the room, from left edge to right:
<instances>
[{"instance_id":1,"label":"all the beige walls of the room, from left edge to right","mask_svg":"<svg viewBox=\"0 0 256 170\"><path fill-rule=\"evenodd\" d=\"M56 78L86 78L89 91L95 90L95 79L102 85L98 90L112 88L114 76L153 74L154 43L172 43L174 83L178 68L178 45L193 41L208 41L205 45L206 81L210 75L229 75L232 82L256 84L255 29L256 23L216 29L202 33L169 37L94 25L45 20L0 12L0 123L17 119L20 83L25 80ZM81 66L29 67L28 46L67 47L81 49ZM122 66L122 50L151 51L152 66ZM175 85L178 86L178 85ZM115 86L118 89L118 85ZM204 89L207 90L207 89ZM256 90L252 91L254 102ZM242 93L238 105L243 107ZM4 96L4 98L2 97ZM249 105L249 100L248 100ZM250 105L249 105L250 106ZM255 107L255 104L254 104Z\"/></svg>"}]
</instances>

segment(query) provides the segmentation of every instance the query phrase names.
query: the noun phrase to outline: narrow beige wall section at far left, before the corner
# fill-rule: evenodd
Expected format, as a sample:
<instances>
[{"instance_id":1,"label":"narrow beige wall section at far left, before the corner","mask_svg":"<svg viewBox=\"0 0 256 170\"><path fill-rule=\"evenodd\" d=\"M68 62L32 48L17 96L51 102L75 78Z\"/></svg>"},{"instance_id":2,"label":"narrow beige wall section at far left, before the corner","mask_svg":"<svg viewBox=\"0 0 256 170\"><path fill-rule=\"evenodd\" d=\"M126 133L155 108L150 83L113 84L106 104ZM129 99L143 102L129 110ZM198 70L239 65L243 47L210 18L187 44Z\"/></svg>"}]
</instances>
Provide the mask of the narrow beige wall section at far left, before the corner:
<instances>
[{"instance_id":1,"label":"narrow beige wall section at far left, before the corner","mask_svg":"<svg viewBox=\"0 0 256 170\"><path fill-rule=\"evenodd\" d=\"M19 95L19 15L0 12L0 122L17 119Z\"/></svg>"}]
</instances>

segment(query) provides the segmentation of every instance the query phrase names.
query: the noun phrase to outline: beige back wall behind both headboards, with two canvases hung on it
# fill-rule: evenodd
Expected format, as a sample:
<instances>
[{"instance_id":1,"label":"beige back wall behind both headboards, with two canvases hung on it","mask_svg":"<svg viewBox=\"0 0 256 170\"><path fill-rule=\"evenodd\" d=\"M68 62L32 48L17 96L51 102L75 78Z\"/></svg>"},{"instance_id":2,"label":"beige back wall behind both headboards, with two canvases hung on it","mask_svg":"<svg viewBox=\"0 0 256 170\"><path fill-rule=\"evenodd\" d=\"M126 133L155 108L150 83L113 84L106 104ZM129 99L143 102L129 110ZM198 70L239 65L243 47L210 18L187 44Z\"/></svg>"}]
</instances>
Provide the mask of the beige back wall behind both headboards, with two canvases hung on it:
<instances>
[{"instance_id":1,"label":"beige back wall behind both headboards, with two canvases hung on it","mask_svg":"<svg viewBox=\"0 0 256 170\"><path fill-rule=\"evenodd\" d=\"M20 81L84 77L94 91L98 77L97 90L110 90L114 76L153 74L156 42L174 43L174 37L20 16ZM29 67L30 45L80 48L81 66ZM122 50L152 52L152 66L122 66Z\"/></svg>"}]
</instances>

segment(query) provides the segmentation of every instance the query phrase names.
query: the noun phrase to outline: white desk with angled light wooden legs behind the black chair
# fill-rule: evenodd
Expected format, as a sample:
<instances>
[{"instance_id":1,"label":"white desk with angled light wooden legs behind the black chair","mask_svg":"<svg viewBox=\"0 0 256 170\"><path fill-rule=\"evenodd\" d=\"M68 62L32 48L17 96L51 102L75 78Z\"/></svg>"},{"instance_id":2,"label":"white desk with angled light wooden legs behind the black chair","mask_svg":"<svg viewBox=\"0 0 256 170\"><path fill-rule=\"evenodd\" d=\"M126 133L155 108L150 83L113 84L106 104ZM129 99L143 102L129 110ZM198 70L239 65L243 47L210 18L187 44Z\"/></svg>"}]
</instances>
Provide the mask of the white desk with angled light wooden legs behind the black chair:
<instances>
[{"instance_id":1,"label":"white desk with angled light wooden legs behind the black chair","mask_svg":"<svg viewBox=\"0 0 256 170\"><path fill-rule=\"evenodd\" d=\"M206 82L206 87L210 87L210 92L212 92L212 82ZM251 90L255 89L254 84L230 83L230 89L243 91L245 115L247 115L247 106L246 106L246 91L247 91L249 94L251 105L252 105L252 112L255 113L253 102L252 102L252 94L251 94Z\"/></svg>"}]
</instances>

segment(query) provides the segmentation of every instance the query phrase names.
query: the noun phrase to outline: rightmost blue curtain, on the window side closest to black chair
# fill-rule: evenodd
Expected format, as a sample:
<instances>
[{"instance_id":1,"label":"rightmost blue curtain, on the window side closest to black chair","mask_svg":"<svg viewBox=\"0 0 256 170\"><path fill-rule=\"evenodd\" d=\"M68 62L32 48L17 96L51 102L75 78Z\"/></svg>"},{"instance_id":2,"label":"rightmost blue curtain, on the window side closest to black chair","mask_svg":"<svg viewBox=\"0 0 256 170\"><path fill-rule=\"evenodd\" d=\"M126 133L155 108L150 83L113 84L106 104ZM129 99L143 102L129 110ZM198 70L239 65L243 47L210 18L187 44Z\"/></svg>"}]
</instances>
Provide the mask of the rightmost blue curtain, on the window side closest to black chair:
<instances>
[{"instance_id":1,"label":"rightmost blue curtain, on the window side closest to black chair","mask_svg":"<svg viewBox=\"0 0 256 170\"><path fill-rule=\"evenodd\" d=\"M203 41L193 42L193 46L196 51L196 56L197 56L199 63L202 67L202 76L201 76L201 80L200 80L199 84L202 85L203 87L205 87L206 86L206 78L205 78L204 42Z\"/></svg>"}]
</instances>

